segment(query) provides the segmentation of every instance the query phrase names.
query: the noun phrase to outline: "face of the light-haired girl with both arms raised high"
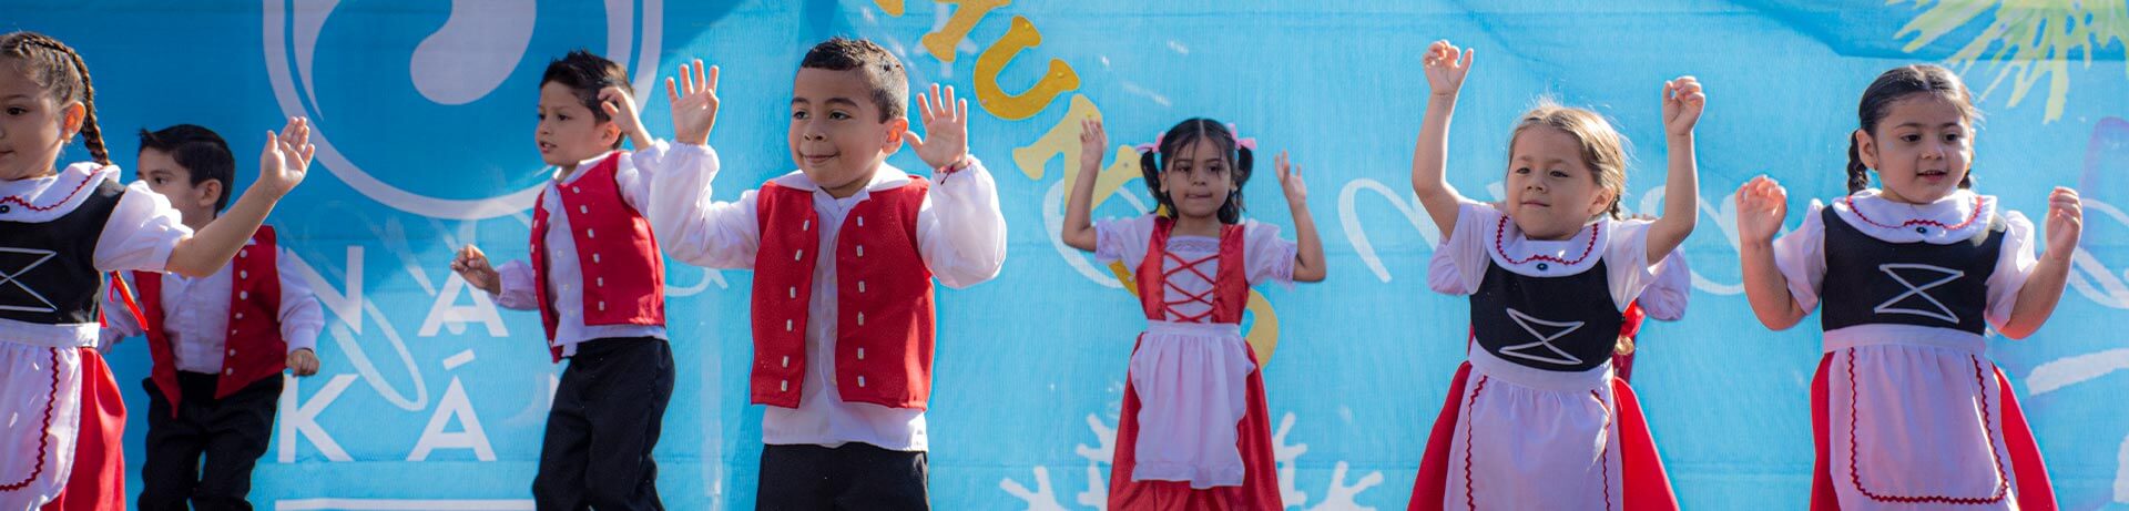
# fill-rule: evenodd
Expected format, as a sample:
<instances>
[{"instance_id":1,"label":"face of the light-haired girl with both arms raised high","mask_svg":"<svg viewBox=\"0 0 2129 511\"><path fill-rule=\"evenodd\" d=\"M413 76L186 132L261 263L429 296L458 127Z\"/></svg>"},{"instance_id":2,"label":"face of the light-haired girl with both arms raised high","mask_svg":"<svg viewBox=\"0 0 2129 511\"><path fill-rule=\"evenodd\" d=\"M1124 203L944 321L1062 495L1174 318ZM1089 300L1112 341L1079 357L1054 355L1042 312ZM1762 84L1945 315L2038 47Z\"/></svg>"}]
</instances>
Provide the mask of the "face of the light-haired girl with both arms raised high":
<instances>
[{"instance_id":1,"label":"face of the light-haired girl with both arms raised high","mask_svg":"<svg viewBox=\"0 0 2129 511\"><path fill-rule=\"evenodd\" d=\"M1597 170L1582 162L1582 143L1558 128L1522 130L1509 147L1503 211L1529 238L1567 238L1612 204Z\"/></svg>"}]
</instances>

